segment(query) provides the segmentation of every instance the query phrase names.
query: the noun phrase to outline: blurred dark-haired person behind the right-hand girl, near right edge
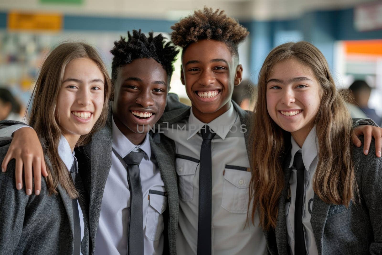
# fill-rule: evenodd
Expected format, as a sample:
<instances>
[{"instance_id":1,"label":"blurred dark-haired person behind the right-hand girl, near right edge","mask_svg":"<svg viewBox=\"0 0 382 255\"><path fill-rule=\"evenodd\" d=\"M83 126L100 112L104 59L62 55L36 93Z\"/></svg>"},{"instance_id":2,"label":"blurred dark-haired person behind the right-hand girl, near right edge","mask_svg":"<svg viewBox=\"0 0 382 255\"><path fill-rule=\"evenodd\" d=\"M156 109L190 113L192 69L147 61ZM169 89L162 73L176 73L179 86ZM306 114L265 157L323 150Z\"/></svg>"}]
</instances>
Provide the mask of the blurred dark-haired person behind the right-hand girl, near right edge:
<instances>
[{"instance_id":1,"label":"blurred dark-haired person behind the right-hand girl, near right edge","mask_svg":"<svg viewBox=\"0 0 382 255\"><path fill-rule=\"evenodd\" d=\"M369 97L371 93L371 88L369 84L367 84L366 81L363 80L356 80L350 85L349 90L350 103L356 106L356 108L362 110L367 117L374 120L378 125L380 125L382 123L382 118L377 115L376 110L367 107L367 102L369 102Z\"/></svg>"}]
</instances>

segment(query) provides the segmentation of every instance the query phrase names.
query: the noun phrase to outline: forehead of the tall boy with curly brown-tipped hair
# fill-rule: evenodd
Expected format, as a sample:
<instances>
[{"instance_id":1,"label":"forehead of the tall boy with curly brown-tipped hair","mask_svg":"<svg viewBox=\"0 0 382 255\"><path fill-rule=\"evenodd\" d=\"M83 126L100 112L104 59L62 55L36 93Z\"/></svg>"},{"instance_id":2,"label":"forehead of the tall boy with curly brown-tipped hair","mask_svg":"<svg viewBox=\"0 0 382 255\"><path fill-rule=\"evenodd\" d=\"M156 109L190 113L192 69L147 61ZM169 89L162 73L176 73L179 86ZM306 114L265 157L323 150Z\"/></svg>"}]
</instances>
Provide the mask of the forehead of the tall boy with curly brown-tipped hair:
<instances>
[{"instance_id":1,"label":"forehead of the tall boy with curly brown-tipped hair","mask_svg":"<svg viewBox=\"0 0 382 255\"><path fill-rule=\"evenodd\" d=\"M183 53L182 62L184 64L190 60L197 60L204 63L217 58L233 63L232 54L225 42L204 39L194 42L186 48Z\"/></svg>"}]
</instances>

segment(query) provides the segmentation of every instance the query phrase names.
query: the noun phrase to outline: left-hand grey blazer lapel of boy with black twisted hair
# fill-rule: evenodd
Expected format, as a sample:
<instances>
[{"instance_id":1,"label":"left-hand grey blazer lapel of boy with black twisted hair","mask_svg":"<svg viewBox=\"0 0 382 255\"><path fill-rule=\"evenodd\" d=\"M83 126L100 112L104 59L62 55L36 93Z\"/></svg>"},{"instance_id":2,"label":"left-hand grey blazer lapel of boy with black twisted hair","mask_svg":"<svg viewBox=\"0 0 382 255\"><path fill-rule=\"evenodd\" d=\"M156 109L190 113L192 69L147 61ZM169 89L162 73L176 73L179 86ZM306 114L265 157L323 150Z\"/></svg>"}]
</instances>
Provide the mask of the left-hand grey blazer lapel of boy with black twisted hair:
<instances>
[{"instance_id":1,"label":"left-hand grey blazer lapel of boy with black twisted hair","mask_svg":"<svg viewBox=\"0 0 382 255\"><path fill-rule=\"evenodd\" d=\"M91 140L89 226L90 238L93 244L95 243L95 235L97 234L106 180L110 167L112 166L113 133L111 113L108 117L109 122L99 132L94 133Z\"/></svg>"}]
</instances>

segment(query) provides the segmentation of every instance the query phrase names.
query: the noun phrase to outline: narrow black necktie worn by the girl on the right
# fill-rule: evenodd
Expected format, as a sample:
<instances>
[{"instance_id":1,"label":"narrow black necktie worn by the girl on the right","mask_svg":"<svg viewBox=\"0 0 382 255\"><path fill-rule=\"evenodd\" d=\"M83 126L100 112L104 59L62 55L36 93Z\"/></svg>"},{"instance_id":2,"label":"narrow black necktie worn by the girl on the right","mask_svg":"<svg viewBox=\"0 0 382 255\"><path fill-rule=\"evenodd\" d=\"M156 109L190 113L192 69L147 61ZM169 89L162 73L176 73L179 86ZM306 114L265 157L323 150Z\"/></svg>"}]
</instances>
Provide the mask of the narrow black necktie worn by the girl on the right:
<instances>
[{"instance_id":1,"label":"narrow black necktie worn by the girl on the right","mask_svg":"<svg viewBox=\"0 0 382 255\"><path fill-rule=\"evenodd\" d=\"M302 222L305 166L301 152L297 152L295 154L294 164L297 175L295 203L295 255L305 255L305 236Z\"/></svg>"}]
</instances>

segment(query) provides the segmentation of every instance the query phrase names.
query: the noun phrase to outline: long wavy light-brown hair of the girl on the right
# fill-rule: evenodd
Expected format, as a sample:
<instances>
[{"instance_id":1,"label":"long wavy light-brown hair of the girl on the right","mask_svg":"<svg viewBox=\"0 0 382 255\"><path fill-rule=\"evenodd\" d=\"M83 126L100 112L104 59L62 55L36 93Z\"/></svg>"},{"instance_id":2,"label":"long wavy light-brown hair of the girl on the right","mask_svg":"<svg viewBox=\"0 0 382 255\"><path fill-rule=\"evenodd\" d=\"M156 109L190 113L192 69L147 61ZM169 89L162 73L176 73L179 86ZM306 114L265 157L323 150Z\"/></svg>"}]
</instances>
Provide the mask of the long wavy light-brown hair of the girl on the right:
<instances>
[{"instance_id":1,"label":"long wavy light-brown hair of the girl on the right","mask_svg":"<svg viewBox=\"0 0 382 255\"><path fill-rule=\"evenodd\" d=\"M255 115L251 130L250 200L251 219L256 209L263 229L275 228L278 199L284 188L283 159L290 148L290 133L280 128L267 111L267 80L275 64L294 59L311 68L321 85L322 97L315 119L319 141L318 164L313 190L325 203L348 205L354 198L356 181L351 158L352 120L345 101L336 90L322 53L309 42L282 44L273 49L262 65Z\"/></svg>"}]
</instances>

